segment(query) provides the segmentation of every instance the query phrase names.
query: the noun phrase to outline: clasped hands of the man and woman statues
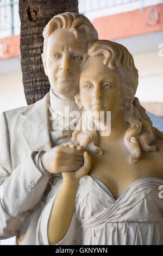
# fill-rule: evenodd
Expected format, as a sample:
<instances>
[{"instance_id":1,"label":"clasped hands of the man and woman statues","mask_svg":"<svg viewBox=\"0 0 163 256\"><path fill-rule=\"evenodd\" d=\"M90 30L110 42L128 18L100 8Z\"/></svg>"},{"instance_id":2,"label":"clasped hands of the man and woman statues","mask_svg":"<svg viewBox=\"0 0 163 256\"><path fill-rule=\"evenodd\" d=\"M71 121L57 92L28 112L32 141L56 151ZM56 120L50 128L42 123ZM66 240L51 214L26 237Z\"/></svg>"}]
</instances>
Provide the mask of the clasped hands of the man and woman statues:
<instances>
[{"instance_id":1,"label":"clasped hands of the man and woman statues","mask_svg":"<svg viewBox=\"0 0 163 256\"><path fill-rule=\"evenodd\" d=\"M79 181L91 169L91 157L79 144L64 144L52 148L42 156L49 173L61 173L64 180Z\"/></svg>"}]
</instances>

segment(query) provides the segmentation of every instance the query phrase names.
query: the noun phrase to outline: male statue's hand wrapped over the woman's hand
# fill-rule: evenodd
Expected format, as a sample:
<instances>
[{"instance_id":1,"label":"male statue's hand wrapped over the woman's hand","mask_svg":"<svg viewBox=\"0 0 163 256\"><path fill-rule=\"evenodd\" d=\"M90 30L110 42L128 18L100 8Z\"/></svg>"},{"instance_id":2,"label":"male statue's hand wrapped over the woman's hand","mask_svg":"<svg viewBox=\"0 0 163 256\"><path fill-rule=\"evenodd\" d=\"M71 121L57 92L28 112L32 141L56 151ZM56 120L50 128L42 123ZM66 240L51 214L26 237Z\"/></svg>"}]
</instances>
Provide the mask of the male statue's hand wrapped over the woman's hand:
<instances>
[{"instance_id":1,"label":"male statue's hand wrapped over the woman's hand","mask_svg":"<svg viewBox=\"0 0 163 256\"><path fill-rule=\"evenodd\" d=\"M83 153L82 149L57 146L43 154L42 163L50 173L71 172L83 166Z\"/></svg>"}]
</instances>

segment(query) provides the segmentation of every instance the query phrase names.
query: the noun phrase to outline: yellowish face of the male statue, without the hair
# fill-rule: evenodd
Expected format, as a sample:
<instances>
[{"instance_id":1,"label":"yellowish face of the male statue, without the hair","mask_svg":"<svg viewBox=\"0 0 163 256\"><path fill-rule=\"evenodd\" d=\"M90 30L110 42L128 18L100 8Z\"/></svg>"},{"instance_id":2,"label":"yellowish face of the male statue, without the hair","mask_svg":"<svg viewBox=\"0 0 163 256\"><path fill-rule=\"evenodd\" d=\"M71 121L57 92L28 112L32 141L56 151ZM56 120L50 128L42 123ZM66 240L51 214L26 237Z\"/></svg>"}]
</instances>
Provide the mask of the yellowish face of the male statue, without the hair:
<instances>
[{"instance_id":1,"label":"yellowish face of the male statue, without the hair","mask_svg":"<svg viewBox=\"0 0 163 256\"><path fill-rule=\"evenodd\" d=\"M83 35L83 34L82 34ZM61 99L73 99L78 91L80 65L87 51L87 41L65 29L57 29L47 40L47 52L42 54L45 73L54 93Z\"/></svg>"}]
</instances>

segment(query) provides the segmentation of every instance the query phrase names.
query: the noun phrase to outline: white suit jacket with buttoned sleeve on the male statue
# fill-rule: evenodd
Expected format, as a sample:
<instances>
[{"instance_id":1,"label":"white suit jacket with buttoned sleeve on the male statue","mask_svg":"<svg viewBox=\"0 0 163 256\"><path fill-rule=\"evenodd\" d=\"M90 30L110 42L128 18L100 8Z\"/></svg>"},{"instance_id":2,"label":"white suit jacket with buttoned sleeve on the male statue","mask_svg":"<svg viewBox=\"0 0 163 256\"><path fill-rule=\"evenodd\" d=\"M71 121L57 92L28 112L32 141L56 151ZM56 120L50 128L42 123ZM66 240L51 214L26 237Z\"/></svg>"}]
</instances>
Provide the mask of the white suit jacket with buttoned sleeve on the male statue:
<instances>
[{"instance_id":1,"label":"white suit jacket with buttoned sleeve on the male statue","mask_svg":"<svg viewBox=\"0 0 163 256\"><path fill-rule=\"evenodd\" d=\"M16 236L20 245L35 245L36 225L49 175L36 167L34 155L52 148L48 107L49 93L32 105L2 113L0 240Z\"/></svg>"}]
</instances>

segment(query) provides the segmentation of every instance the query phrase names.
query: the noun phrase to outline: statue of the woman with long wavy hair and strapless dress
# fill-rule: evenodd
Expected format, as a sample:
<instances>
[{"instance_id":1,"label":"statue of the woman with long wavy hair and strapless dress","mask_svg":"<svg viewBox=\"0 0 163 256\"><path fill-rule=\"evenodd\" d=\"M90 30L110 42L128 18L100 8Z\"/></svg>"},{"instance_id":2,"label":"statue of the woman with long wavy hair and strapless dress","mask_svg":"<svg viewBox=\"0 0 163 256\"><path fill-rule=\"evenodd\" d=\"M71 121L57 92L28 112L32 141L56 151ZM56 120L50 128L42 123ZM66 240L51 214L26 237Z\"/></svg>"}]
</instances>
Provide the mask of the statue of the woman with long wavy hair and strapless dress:
<instances>
[{"instance_id":1,"label":"statue of the woman with long wavy hair and strapless dress","mask_svg":"<svg viewBox=\"0 0 163 256\"><path fill-rule=\"evenodd\" d=\"M55 180L37 226L38 245L163 244L163 133L134 97L137 84L126 47L93 42L75 99L81 119L96 112L94 128L77 125L65 144L84 149L84 165ZM102 136L97 113L107 111L111 134Z\"/></svg>"}]
</instances>

